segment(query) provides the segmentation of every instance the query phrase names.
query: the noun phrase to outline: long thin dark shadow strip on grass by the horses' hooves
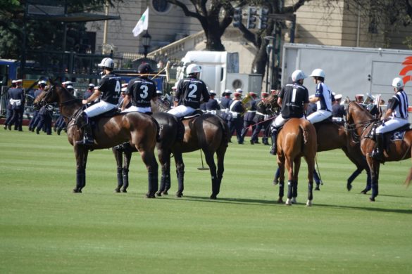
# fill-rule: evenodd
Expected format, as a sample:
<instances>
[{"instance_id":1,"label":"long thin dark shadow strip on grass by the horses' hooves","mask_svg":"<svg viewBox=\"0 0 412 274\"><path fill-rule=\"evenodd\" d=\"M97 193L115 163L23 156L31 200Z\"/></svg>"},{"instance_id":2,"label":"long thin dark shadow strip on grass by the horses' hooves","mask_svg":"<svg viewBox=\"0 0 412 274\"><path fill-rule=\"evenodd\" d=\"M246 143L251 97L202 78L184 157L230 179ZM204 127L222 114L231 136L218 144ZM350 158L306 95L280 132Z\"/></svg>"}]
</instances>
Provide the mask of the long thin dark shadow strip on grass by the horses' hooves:
<instances>
[{"instance_id":1,"label":"long thin dark shadow strip on grass by the horses' hooves","mask_svg":"<svg viewBox=\"0 0 412 274\"><path fill-rule=\"evenodd\" d=\"M383 195L382 195L383 196ZM220 198L218 200L211 200L208 197L199 197L199 196L184 196L182 198L176 198L175 196L163 196L161 199L173 199L173 200L182 200L185 202L219 202L227 204L247 204L247 205L279 205L285 207L285 203L278 204L275 200L257 200L257 199L237 199L237 198ZM187 199L185 199L187 198ZM370 202L370 204L379 204L379 202ZM299 202L297 206L304 206L305 204ZM294 205L294 206L296 206ZM293 206L292 206L293 207ZM325 207L325 208L336 208L336 209L357 209L365 211L376 211L376 212L385 212L385 213L399 213L399 214L412 214L412 209L386 209L379 207L352 207L346 205L336 205L336 204L313 204L313 207Z\"/></svg>"}]
</instances>

